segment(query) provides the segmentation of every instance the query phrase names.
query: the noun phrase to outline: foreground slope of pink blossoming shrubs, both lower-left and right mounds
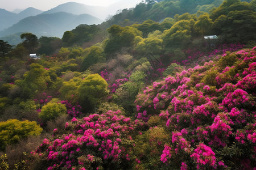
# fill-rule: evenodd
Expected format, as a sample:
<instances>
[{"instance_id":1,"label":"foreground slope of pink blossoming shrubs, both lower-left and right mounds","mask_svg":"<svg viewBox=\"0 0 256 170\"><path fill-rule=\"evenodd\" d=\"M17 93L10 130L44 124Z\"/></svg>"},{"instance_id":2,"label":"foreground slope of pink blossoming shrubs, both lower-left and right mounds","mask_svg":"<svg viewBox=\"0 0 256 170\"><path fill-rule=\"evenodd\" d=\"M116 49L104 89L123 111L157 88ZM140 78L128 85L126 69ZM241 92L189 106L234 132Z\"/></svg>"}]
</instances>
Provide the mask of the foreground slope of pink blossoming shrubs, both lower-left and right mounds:
<instances>
[{"instance_id":1,"label":"foreground slope of pink blossoming shrubs, both lower-left and right mounds","mask_svg":"<svg viewBox=\"0 0 256 170\"><path fill-rule=\"evenodd\" d=\"M255 78L256 47L226 53L144 88L134 121L73 118L34 156L46 169L253 169Z\"/></svg>"}]
</instances>

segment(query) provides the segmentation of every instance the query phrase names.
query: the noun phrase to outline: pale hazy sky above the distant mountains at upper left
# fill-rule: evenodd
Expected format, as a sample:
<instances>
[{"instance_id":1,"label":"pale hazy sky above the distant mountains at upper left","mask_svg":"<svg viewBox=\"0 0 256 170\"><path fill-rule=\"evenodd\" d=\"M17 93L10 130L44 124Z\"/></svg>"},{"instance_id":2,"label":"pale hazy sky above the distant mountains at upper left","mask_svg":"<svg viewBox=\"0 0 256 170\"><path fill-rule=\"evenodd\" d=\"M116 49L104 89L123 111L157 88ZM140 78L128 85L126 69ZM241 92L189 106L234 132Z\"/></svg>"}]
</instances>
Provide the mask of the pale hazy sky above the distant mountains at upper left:
<instances>
[{"instance_id":1,"label":"pale hazy sky above the distant mountains at upper left","mask_svg":"<svg viewBox=\"0 0 256 170\"><path fill-rule=\"evenodd\" d=\"M77 2L94 6L109 6L118 1L121 0L0 0L0 8L13 11L15 9L24 10L28 7L34 7L38 10L46 11L66 2ZM138 3L139 2L141 2L141 0L138 0Z\"/></svg>"}]
</instances>

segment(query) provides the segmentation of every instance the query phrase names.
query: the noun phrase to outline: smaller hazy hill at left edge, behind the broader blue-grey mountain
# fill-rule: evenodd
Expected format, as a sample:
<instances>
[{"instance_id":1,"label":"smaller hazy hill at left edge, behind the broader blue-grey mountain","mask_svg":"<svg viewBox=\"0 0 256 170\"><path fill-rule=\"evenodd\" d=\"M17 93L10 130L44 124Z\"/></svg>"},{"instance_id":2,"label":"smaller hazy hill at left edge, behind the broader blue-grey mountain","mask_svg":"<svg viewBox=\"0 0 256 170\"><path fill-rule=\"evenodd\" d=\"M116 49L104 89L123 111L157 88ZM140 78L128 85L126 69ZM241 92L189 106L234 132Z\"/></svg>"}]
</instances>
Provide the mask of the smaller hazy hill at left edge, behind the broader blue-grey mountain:
<instances>
[{"instance_id":1,"label":"smaller hazy hill at left edge, behind the broader blue-grey mountain","mask_svg":"<svg viewBox=\"0 0 256 170\"><path fill-rule=\"evenodd\" d=\"M42 12L43 11L36 8L29 7L26 10L19 12L19 14L16 14L0 8L0 31L11 27L11 25L19 22L21 19L27 18L28 16L35 16Z\"/></svg>"}]
</instances>

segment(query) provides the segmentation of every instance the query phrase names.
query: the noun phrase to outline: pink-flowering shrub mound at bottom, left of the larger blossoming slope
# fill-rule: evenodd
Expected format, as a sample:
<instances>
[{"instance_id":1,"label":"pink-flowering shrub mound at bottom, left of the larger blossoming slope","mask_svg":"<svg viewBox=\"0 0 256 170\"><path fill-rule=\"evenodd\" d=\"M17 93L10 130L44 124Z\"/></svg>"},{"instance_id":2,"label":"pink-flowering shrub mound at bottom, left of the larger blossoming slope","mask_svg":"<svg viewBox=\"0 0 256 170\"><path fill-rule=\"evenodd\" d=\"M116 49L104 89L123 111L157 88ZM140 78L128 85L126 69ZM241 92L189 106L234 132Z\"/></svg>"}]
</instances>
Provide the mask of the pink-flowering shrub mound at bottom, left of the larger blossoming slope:
<instances>
[{"instance_id":1,"label":"pink-flowering shrub mound at bottom, left of the larger blossoming slope","mask_svg":"<svg viewBox=\"0 0 256 170\"><path fill-rule=\"evenodd\" d=\"M34 154L47 160L46 169L119 169L129 162L126 155L134 144L131 136L142 126L121 111L74 117L65 125L67 134L45 139Z\"/></svg>"}]
</instances>

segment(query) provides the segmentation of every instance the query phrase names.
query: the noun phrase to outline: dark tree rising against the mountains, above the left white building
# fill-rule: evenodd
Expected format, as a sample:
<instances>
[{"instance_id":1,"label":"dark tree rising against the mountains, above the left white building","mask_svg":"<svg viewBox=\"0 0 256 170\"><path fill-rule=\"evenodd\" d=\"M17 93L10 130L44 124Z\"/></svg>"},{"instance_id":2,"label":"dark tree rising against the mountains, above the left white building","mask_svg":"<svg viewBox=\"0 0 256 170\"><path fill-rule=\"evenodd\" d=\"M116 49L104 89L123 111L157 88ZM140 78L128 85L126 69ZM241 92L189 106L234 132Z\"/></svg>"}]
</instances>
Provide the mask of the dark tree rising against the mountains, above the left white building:
<instances>
[{"instance_id":1,"label":"dark tree rising against the mountains, above the left white building","mask_svg":"<svg viewBox=\"0 0 256 170\"><path fill-rule=\"evenodd\" d=\"M39 41L37 36L32 33L22 33L22 35L20 35L20 39L24 39L22 45L28 50L28 52L36 53L36 50L39 47Z\"/></svg>"}]
</instances>

